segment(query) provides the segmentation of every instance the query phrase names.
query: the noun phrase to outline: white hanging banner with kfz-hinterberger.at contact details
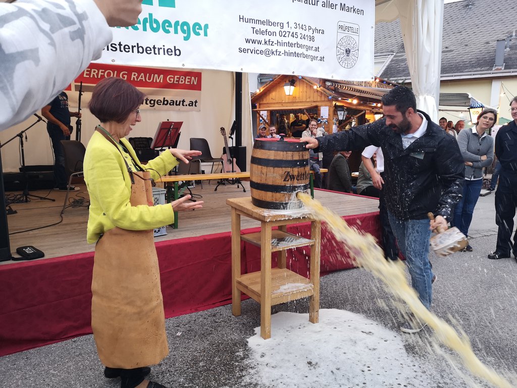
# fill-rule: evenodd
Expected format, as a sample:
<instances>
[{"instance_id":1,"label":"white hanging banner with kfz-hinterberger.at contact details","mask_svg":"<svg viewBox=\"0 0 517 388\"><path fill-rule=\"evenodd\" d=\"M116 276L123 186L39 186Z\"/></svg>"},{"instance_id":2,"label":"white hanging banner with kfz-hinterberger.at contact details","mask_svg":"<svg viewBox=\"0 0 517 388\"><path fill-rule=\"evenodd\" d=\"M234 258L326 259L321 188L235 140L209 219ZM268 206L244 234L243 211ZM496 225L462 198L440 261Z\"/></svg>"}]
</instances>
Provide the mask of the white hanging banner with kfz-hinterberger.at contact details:
<instances>
[{"instance_id":1,"label":"white hanging banner with kfz-hinterberger.at contact details","mask_svg":"<svg viewBox=\"0 0 517 388\"><path fill-rule=\"evenodd\" d=\"M144 0L98 62L296 74L374 75L374 0Z\"/></svg>"}]
</instances>

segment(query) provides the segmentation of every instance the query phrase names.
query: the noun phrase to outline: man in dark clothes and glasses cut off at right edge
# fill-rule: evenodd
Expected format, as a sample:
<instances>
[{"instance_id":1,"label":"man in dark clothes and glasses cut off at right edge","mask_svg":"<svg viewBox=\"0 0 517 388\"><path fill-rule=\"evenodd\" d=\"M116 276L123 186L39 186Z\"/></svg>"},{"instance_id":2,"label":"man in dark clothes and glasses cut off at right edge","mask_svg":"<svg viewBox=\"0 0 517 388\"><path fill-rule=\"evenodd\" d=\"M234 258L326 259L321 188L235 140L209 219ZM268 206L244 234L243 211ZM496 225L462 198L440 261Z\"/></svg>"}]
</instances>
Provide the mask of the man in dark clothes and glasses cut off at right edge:
<instances>
[{"instance_id":1,"label":"man in dark clothes and glasses cut off at right edge","mask_svg":"<svg viewBox=\"0 0 517 388\"><path fill-rule=\"evenodd\" d=\"M489 259L517 259L517 233L513 235L513 217L517 208L517 96L510 102L513 121L499 128L495 136L495 155L501 163L499 185L495 192L495 223L497 245Z\"/></svg>"}]
</instances>

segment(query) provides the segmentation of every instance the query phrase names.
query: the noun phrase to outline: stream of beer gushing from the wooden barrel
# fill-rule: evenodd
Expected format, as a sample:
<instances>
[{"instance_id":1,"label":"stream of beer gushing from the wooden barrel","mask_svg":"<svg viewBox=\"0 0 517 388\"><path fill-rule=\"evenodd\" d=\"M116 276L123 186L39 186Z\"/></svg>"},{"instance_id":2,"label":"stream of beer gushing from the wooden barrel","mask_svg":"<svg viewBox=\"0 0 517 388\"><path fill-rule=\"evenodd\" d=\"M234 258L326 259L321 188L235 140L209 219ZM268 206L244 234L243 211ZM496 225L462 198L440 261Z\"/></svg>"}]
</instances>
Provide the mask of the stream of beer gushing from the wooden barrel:
<instances>
[{"instance_id":1,"label":"stream of beer gushing from the wooden barrel","mask_svg":"<svg viewBox=\"0 0 517 388\"><path fill-rule=\"evenodd\" d=\"M475 376L478 376L500 388L511 388L512 384L497 374L495 370L484 365L474 354L470 341L465 333L460 336L447 322L438 318L418 299L415 290L406 281L404 264L397 260L385 260L384 252L370 234L359 234L337 214L334 214L319 201L307 193L299 192L298 199L316 219L325 221L337 240L352 253L356 264L381 279L387 289L403 300L413 314L430 326L436 337L444 345L455 351Z\"/></svg>"}]
</instances>

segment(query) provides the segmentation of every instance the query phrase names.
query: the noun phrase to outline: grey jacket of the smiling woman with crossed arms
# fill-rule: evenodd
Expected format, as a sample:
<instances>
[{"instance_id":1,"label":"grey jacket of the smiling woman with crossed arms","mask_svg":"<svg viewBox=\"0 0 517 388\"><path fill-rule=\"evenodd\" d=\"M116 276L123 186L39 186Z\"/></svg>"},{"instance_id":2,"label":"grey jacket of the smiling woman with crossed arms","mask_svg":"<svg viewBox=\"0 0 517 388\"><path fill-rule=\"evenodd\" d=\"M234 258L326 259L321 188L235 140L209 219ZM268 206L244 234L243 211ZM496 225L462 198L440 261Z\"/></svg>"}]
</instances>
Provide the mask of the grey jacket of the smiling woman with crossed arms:
<instances>
[{"instance_id":1,"label":"grey jacket of the smiling woman with crossed arms","mask_svg":"<svg viewBox=\"0 0 517 388\"><path fill-rule=\"evenodd\" d=\"M494 160L494 138L488 135L480 138L475 127L465 128L458 133L458 145L463 159L473 163L472 167L465 166L465 178L482 178L483 167L492 165ZM482 155L486 155L483 161Z\"/></svg>"}]
</instances>

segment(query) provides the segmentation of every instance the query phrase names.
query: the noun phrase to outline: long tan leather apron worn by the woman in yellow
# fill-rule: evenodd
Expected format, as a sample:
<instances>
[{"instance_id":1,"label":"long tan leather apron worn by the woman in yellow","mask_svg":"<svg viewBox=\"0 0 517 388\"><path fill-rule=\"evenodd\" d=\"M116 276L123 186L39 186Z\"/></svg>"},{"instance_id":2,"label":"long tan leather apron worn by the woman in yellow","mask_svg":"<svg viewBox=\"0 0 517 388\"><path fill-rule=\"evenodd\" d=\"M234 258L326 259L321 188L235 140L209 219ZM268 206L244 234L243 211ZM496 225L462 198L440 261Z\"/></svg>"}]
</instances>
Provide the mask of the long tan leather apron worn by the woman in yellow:
<instances>
[{"instance_id":1,"label":"long tan leather apron worn by the woman in yellow","mask_svg":"<svg viewBox=\"0 0 517 388\"><path fill-rule=\"evenodd\" d=\"M133 174L132 206L153 205L149 172ZM92 329L111 368L158 364L169 353L153 230L115 227L95 246Z\"/></svg>"}]
</instances>

